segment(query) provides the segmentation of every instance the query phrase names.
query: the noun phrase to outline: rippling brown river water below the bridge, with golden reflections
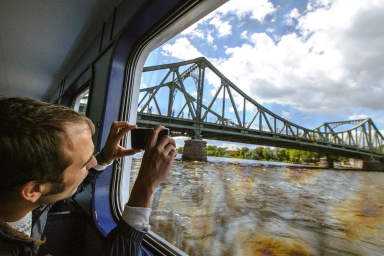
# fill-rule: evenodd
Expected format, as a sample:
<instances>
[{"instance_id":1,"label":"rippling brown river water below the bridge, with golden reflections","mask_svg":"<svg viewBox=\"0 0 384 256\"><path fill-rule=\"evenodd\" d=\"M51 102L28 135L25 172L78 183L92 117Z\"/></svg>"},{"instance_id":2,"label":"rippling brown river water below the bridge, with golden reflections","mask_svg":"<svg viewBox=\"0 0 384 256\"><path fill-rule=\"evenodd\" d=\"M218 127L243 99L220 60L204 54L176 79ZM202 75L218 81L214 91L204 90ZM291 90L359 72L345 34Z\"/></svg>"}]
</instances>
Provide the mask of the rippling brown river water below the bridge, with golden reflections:
<instances>
[{"instance_id":1,"label":"rippling brown river water below the bridge, with golden reflections","mask_svg":"<svg viewBox=\"0 0 384 256\"><path fill-rule=\"evenodd\" d=\"M384 255L384 172L180 158L153 193L150 225L191 256Z\"/></svg>"}]
</instances>

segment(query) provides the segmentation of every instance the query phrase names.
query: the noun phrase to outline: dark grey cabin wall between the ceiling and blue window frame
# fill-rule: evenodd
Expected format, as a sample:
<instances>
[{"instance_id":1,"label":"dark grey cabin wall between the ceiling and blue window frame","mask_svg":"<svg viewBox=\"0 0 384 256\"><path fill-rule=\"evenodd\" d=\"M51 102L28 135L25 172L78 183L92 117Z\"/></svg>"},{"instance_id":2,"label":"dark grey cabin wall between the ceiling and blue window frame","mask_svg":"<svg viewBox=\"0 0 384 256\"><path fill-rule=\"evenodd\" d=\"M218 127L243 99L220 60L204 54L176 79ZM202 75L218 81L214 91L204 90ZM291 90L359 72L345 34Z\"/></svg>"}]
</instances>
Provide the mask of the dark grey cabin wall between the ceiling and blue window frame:
<instances>
[{"instance_id":1,"label":"dark grey cabin wall between the ceiling and blue window frame","mask_svg":"<svg viewBox=\"0 0 384 256\"><path fill-rule=\"evenodd\" d=\"M83 53L78 57L76 63L68 67L69 72L62 77L56 90L49 96L49 102L60 103L64 91L84 70L89 67L92 68L93 75L90 83L91 90L88 100L88 116L96 126L95 134L92 136L94 145L97 145L99 132L97 123L101 121L109 64L116 38L118 38L121 30L134 16L135 12L142 5L145 5L147 1L148 0L122 0L99 28ZM76 195L75 199L87 212L90 212L89 200L91 189L90 186L87 188L86 191Z\"/></svg>"}]
</instances>

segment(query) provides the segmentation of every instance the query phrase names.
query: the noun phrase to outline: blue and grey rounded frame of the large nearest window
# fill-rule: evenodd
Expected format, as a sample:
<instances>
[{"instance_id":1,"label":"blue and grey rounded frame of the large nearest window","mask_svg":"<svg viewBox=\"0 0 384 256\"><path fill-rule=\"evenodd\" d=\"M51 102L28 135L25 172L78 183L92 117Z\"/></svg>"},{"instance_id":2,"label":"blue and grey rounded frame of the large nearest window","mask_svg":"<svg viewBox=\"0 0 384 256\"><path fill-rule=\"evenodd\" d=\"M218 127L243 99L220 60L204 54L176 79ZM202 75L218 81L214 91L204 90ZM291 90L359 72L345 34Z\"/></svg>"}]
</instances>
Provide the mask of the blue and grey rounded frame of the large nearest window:
<instances>
[{"instance_id":1,"label":"blue and grey rounded frame of the large nearest window","mask_svg":"<svg viewBox=\"0 0 384 256\"><path fill-rule=\"evenodd\" d=\"M98 151L105 144L111 122L127 120L135 123L141 72L149 52L226 1L147 0L130 18L116 36L110 60L96 145ZM128 137L123 139L122 146L129 147ZM108 166L92 185L91 212L104 236L121 218L120 184L123 172L130 176L130 159L121 159L122 170ZM187 255L152 232L146 235L143 244L158 255Z\"/></svg>"}]
</instances>

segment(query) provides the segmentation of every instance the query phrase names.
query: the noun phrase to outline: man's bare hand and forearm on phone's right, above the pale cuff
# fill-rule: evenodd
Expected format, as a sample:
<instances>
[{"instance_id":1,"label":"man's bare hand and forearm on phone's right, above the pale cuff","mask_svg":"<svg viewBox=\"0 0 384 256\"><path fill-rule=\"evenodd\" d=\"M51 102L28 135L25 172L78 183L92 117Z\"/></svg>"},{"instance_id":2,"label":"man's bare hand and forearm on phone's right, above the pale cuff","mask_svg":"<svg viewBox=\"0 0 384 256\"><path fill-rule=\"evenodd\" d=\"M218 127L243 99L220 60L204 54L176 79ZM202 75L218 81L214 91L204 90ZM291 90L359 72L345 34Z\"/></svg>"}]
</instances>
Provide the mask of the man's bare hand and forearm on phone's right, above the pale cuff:
<instances>
[{"instance_id":1,"label":"man's bare hand and forearm on phone's right, above the pale cuff","mask_svg":"<svg viewBox=\"0 0 384 256\"><path fill-rule=\"evenodd\" d=\"M157 125L150 133L142 156L141 167L129 196L128 206L149 207L150 197L157 185L168 175L176 156L176 143L169 136L157 142L157 135L165 127Z\"/></svg>"}]
</instances>

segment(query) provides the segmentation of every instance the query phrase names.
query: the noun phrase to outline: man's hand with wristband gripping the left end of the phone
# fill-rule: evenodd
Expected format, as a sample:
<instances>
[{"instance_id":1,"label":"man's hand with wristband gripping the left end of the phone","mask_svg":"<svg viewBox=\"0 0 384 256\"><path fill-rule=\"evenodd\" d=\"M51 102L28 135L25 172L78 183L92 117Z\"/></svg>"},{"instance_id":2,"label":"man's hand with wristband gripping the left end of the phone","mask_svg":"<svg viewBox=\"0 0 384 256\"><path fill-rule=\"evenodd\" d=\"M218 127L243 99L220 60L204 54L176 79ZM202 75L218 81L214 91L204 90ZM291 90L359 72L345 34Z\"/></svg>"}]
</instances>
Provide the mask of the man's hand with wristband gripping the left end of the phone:
<instances>
[{"instance_id":1,"label":"man's hand with wristband gripping the left end of the phone","mask_svg":"<svg viewBox=\"0 0 384 256\"><path fill-rule=\"evenodd\" d=\"M128 130L134 129L136 127L137 125L130 125L129 122L126 121L112 123L108 137L106 138L105 145L102 149L103 157L105 160L111 161L113 159L141 152L141 149L125 149L119 145L120 140L124 134L127 133ZM106 165L106 163L102 161L100 154L97 154L96 159L99 165Z\"/></svg>"}]
</instances>

